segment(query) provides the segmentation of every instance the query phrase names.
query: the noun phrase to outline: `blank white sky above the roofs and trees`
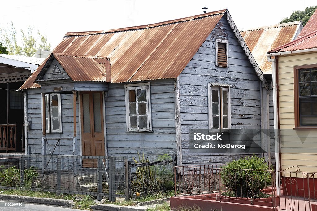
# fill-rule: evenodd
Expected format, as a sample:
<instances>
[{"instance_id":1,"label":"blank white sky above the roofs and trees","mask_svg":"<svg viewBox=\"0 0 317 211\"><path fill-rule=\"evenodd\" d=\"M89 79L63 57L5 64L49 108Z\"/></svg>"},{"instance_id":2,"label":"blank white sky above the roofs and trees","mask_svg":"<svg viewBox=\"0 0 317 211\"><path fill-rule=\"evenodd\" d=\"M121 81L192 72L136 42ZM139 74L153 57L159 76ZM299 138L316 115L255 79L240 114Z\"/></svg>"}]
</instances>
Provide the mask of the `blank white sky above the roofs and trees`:
<instances>
[{"instance_id":1,"label":"blank white sky above the roofs and trees","mask_svg":"<svg viewBox=\"0 0 317 211\"><path fill-rule=\"evenodd\" d=\"M1 2L0 28L33 25L54 48L70 31L107 30L228 9L239 30L277 24L316 0L9 0ZM36 35L36 34L35 34Z\"/></svg>"}]
</instances>

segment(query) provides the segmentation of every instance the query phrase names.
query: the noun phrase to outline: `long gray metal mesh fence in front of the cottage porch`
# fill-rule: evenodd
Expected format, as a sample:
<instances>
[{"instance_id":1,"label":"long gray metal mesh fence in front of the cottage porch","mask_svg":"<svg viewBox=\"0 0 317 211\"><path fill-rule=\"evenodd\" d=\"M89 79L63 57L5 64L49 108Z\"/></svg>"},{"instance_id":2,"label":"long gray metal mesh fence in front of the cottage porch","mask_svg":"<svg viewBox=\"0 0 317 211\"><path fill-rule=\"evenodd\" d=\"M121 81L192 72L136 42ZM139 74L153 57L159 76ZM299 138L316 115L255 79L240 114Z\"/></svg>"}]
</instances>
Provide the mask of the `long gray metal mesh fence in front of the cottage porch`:
<instances>
[{"instance_id":1,"label":"long gray metal mesh fence in front of the cottage porch","mask_svg":"<svg viewBox=\"0 0 317 211\"><path fill-rule=\"evenodd\" d=\"M0 188L127 197L126 157L0 155ZM101 199L100 199L101 200Z\"/></svg>"}]
</instances>

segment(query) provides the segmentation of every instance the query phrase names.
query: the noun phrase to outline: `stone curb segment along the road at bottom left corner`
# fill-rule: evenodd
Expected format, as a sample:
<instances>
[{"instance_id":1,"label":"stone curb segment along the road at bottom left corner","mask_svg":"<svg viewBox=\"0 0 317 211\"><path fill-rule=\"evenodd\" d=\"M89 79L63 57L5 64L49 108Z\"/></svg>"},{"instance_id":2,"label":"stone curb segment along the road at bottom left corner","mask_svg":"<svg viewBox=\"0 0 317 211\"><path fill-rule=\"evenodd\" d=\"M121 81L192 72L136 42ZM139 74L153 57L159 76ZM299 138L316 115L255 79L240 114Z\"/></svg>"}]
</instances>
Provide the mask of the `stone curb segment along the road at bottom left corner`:
<instances>
[{"instance_id":1,"label":"stone curb segment along the road at bottom left corner","mask_svg":"<svg viewBox=\"0 0 317 211\"><path fill-rule=\"evenodd\" d=\"M0 200L2 201L19 201L32 204L45 204L61 207L73 207L75 205L73 200L66 199L51 199L51 198L39 198L31 196L19 196L19 195L6 195L0 194Z\"/></svg>"}]
</instances>

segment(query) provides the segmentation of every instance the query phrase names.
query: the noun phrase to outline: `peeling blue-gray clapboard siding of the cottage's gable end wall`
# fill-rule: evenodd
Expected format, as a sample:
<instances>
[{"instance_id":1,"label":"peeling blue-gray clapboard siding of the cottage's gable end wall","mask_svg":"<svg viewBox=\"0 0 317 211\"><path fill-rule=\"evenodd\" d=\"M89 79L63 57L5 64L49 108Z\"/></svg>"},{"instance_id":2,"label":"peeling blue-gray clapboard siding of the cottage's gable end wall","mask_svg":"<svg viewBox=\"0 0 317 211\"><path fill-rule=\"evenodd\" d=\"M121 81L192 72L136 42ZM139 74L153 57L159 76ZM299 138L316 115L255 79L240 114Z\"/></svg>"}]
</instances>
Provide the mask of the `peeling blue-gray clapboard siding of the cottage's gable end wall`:
<instances>
[{"instance_id":1,"label":"peeling blue-gray clapboard siding of the cottage's gable end wall","mask_svg":"<svg viewBox=\"0 0 317 211\"><path fill-rule=\"evenodd\" d=\"M229 41L229 67L215 66L215 39ZM260 128L260 80L223 17L179 76L183 165L219 164L240 154L191 153L190 129L208 129L208 83L230 84L231 128Z\"/></svg>"}]
</instances>

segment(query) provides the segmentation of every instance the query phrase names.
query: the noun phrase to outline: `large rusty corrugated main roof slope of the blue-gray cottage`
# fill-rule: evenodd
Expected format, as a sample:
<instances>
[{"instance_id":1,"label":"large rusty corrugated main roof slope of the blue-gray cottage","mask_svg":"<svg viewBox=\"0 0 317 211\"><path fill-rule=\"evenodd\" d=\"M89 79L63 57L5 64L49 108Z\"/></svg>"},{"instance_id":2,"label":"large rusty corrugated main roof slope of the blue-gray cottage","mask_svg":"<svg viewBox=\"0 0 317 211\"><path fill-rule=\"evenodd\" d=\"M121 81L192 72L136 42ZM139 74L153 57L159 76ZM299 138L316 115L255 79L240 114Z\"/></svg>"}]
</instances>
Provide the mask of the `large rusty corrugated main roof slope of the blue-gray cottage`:
<instances>
[{"instance_id":1,"label":"large rusty corrugated main roof slope of the blue-gray cottage","mask_svg":"<svg viewBox=\"0 0 317 211\"><path fill-rule=\"evenodd\" d=\"M109 57L113 83L176 78L226 11L107 31L68 32L53 53ZM40 87L34 81L46 62L20 89ZM75 60L63 62L71 68ZM78 69L72 71L77 74ZM95 79L94 74L77 80Z\"/></svg>"}]
</instances>

